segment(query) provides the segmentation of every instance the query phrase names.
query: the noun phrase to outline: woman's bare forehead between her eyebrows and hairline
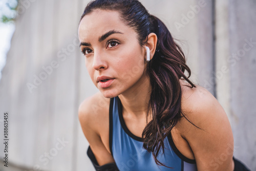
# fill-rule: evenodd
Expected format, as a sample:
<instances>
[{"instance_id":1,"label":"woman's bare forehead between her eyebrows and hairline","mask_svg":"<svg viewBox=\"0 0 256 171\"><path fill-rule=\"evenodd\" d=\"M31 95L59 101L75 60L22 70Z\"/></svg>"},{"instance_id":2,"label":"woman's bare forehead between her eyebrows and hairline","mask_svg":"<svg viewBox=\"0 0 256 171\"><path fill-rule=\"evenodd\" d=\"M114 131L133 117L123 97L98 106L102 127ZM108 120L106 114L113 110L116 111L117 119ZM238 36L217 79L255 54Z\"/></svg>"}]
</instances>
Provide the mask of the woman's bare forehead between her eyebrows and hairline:
<instances>
[{"instance_id":1,"label":"woman's bare forehead between her eyebrows and hairline","mask_svg":"<svg viewBox=\"0 0 256 171\"><path fill-rule=\"evenodd\" d=\"M133 32L133 29L121 22L119 12L97 9L82 18L78 34L81 39L89 39L93 35L100 36L113 29L119 30L124 34Z\"/></svg>"}]
</instances>

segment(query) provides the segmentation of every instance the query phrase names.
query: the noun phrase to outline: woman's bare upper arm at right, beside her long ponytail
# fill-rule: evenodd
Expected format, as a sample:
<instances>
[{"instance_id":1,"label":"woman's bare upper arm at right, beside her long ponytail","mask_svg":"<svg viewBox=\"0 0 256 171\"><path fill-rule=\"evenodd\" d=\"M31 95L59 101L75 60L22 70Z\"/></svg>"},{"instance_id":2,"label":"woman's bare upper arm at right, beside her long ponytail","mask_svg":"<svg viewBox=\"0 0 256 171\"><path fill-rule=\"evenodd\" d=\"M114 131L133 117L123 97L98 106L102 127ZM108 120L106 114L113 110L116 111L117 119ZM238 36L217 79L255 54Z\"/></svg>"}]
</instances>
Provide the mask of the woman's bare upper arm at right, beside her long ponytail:
<instances>
[{"instance_id":1,"label":"woman's bare upper arm at right, beside her long ponytail","mask_svg":"<svg viewBox=\"0 0 256 171\"><path fill-rule=\"evenodd\" d=\"M233 135L220 103L207 90L199 88L184 104L186 117L200 127L182 119L183 137L194 153L198 170L231 171Z\"/></svg>"}]
</instances>

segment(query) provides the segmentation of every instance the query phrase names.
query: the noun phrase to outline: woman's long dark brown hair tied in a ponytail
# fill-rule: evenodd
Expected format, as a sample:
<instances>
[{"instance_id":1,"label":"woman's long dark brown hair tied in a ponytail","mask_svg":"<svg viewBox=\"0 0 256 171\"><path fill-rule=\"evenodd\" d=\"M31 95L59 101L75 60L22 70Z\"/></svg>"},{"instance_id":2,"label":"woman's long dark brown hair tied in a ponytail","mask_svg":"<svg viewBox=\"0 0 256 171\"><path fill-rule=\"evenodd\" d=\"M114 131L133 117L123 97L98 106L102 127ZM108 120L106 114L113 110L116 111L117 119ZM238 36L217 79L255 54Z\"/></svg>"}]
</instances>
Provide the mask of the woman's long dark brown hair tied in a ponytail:
<instances>
[{"instance_id":1,"label":"woman's long dark brown hair tied in a ponytail","mask_svg":"<svg viewBox=\"0 0 256 171\"><path fill-rule=\"evenodd\" d=\"M190 88L196 87L188 79L191 72L186 65L184 53L163 22L156 16L149 14L137 0L92 1L84 9L81 19L95 9L118 11L122 22L137 32L137 39L141 47L146 44L148 34L155 33L158 37L155 55L147 63L147 73L150 76L152 92L147 106L146 118L148 118L151 110L153 119L150 122L146 120L148 123L143 130L142 138L143 148L152 152L158 165L165 166L157 159L159 151L162 148L164 152L164 139L170 134L181 117L185 117L181 111L179 80L183 77L191 85ZM187 71L188 76L185 76L185 71Z\"/></svg>"}]
</instances>

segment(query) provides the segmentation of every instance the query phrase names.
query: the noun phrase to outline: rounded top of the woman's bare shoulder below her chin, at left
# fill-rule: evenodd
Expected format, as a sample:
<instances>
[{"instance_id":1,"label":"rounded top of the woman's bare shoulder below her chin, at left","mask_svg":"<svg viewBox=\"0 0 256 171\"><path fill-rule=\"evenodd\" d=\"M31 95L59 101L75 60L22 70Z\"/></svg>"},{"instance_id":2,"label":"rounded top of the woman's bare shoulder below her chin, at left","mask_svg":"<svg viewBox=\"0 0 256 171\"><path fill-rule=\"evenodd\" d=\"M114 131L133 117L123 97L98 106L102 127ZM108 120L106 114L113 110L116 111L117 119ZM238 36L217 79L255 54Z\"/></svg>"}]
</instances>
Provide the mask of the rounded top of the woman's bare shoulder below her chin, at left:
<instances>
[{"instance_id":1,"label":"rounded top of the woman's bare shoulder below her chin, at left","mask_svg":"<svg viewBox=\"0 0 256 171\"><path fill-rule=\"evenodd\" d=\"M109 104L110 99L105 98L100 92L84 99L78 108L81 127L94 130L99 134L99 126L108 117Z\"/></svg>"}]
</instances>

